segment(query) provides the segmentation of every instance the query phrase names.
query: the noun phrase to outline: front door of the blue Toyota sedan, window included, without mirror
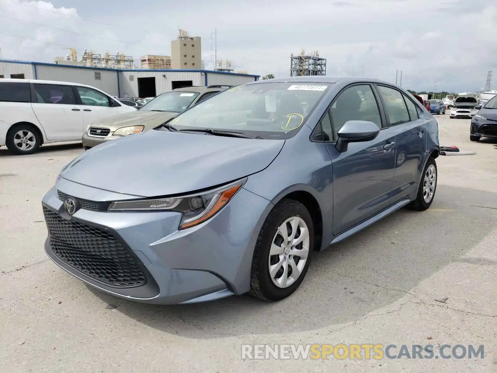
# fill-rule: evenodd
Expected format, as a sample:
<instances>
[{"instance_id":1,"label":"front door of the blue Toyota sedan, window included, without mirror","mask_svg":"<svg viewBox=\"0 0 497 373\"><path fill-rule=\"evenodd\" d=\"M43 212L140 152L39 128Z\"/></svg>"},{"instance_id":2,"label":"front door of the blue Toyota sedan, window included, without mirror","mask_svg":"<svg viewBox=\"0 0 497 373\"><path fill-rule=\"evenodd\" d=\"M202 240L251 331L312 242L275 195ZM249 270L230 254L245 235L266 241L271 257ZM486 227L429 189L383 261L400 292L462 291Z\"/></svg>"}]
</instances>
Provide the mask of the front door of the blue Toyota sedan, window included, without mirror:
<instances>
[{"instance_id":1,"label":"front door of the blue Toyota sedan, window included, without mirror","mask_svg":"<svg viewBox=\"0 0 497 373\"><path fill-rule=\"evenodd\" d=\"M333 141L327 149L333 163L333 226L337 235L391 204L395 169L395 135L385 127L379 97L369 84L354 85L336 98L329 110ZM380 128L371 141L349 143L345 152L335 147L337 132L348 120L367 120Z\"/></svg>"}]
</instances>

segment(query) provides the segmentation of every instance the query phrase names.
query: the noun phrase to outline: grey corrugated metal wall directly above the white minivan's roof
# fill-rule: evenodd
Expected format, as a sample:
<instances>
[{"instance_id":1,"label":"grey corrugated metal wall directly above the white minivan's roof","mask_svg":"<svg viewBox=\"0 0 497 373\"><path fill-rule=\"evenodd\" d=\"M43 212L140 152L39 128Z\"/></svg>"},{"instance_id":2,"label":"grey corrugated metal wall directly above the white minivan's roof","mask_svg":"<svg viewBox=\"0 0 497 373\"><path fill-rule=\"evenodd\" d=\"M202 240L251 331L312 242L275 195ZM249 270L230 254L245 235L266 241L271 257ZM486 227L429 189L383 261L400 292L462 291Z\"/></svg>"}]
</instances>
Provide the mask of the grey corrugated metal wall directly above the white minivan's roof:
<instances>
[{"instance_id":1,"label":"grey corrugated metal wall directly above the white minivan's roof","mask_svg":"<svg viewBox=\"0 0 497 373\"><path fill-rule=\"evenodd\" d=\"M95 73L100 73L100 80L95 79ZM86 84L117 96L117 71L36 65L36 74L39 80Z\"/></svg>"}]
</instances>

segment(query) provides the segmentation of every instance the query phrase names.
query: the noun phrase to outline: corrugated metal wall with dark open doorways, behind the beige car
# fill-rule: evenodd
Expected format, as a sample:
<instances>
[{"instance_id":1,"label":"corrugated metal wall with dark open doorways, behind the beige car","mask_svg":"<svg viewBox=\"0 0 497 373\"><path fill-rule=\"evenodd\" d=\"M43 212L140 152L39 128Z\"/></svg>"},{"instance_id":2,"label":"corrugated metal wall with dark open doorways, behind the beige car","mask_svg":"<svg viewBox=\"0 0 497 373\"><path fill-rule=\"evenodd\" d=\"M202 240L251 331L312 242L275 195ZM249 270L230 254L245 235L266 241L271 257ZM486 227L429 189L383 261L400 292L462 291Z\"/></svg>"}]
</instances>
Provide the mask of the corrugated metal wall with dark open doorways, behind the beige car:
<instances>
[{"instance_id":1,"label":"corrugated metal wall with dark open doorways, behind the beige car","mask_svg":"<svg viewBox=\"0 0 497 373\"><path fill-rule=\"evenodd\" d=\"M165 77L163 77L165 75ZM121 97L138 97L138 78L155 78L156 94L170 91L171 82L192 81L194 86L205 86L205 76L195 72L176 71L121 71L119 88ZM130 80L131 79L131 80Z\"/></svg>"}]
</instances>

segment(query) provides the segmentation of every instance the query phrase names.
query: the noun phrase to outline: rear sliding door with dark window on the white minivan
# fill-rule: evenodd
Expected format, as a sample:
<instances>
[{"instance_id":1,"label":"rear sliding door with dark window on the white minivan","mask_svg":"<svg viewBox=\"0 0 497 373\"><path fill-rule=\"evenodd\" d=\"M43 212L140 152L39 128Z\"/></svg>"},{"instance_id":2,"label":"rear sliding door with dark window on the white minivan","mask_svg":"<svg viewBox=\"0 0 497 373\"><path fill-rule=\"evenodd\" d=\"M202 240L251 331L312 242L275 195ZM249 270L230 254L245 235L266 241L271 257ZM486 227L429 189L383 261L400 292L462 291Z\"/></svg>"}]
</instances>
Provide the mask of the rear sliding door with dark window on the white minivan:
<instances>
[{"instance_id":1,"label":"rear sliding door with dark window on the white minivan","mask_svg":"<svg viewBox=\"0 0 497 373\"><path fill-rule=\"evenodd\" d=\"M83 114L76 104L71 86L58 84L31 85L33 112L47 140L80 140Z\"/></svg>"}]
</instances>

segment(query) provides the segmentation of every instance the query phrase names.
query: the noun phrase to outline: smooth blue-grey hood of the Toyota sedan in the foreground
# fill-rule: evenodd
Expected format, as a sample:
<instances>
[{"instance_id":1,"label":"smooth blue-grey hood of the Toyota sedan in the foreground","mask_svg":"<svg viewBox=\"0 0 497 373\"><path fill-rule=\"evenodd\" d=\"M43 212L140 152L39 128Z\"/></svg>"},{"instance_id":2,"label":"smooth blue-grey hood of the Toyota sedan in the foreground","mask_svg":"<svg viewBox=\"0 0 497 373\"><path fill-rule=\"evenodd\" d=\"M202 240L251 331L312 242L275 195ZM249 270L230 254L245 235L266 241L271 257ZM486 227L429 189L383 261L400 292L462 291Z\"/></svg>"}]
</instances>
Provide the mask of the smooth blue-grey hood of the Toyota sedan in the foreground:
<instances>
[{"instance_id":1,"label":"smooth blue-grey hood of the Toyota sedan in the foreground","mask_svg":"<svg viewBox=\"0 0 497 373\"><path fill-rule=\"evenodd\" d=\"M61 177L144 197L181 194L259 172L271 164L284 143L153 130L89 149Z\"/></svg>"}]
</instances>

